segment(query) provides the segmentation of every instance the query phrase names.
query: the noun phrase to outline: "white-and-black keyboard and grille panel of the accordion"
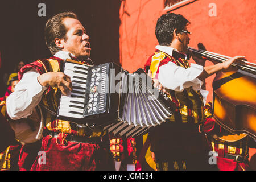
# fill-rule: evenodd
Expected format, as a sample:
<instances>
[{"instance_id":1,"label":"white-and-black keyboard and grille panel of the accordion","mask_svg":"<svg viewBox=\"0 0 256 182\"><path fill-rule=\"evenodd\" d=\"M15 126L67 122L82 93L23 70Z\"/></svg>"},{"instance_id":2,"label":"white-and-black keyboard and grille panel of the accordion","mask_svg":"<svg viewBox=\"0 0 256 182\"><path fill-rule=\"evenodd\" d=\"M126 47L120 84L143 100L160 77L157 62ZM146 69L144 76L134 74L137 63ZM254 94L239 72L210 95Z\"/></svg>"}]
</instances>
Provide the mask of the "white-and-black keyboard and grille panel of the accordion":
<instances>
[{"instance_id":1,"label":"white-and-black keyboard and grille panel of the accordion","mask_svg":"<svg viewBox=\"0 0 256 182\"><path fill-rule=\"evenodd\" d=\"M109 64L88 66L66 61L63 72L71 77L72 92L61 94L58 116L82 119L107 110Z\"/></svg>"}]
</instances>

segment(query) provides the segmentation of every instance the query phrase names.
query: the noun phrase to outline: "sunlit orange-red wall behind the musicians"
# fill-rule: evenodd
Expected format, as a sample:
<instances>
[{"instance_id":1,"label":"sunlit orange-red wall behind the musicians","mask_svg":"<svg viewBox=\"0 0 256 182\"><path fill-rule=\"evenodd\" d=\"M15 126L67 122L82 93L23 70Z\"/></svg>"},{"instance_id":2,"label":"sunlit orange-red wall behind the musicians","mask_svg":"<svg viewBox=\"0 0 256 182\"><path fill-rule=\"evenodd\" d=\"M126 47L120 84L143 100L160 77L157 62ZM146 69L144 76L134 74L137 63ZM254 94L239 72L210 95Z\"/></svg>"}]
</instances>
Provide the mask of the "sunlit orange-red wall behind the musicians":
<instances>
[{"instance_id":1,"label":"sunlit orange-red wall behind the musicians","mask_svg":"<svg viewBox=\"0 0 256 182\"><path fill-rule=\"evenodd\" d=\"M209 16L209 4L215 3L217 16ZM158 44L155 24L164 11L164 1L122 1L120 9L120 60L123 68L134 72L143 68L147 57ZM200 0L172 11L182 14L191 25L189 46L197 47L201 42L208 51L226 56L245 55L252 62L256 57L256 1L255 0ZM193 61L191 61L192 63ZM207 65L210 65L207 61ZM212 100L212 80L207 78L208 101ZM250 155L256 150L250 150Z\"/></svg>"}]
</instances>

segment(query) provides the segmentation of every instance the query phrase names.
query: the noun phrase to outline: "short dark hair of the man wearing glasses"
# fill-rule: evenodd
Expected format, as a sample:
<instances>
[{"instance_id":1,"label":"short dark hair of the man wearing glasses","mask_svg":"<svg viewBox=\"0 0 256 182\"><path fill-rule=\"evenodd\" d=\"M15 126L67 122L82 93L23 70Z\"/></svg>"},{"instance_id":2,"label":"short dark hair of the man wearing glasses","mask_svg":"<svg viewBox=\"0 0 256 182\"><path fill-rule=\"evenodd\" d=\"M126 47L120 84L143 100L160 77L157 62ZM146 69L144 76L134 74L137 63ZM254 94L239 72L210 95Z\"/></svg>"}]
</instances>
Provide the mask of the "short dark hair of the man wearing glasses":
<instances>
[{"instance_id":1,"label":"short dark hair of the man wearing glasses","mask_svg":"<svg viewBox=\"0 0 256 182\"><path fill-rule=\"evenodd\" d=\"M181 32L190 22L183 15L166 13L163 14L156 23L155 35L161 46L170 46L174 36L174 29L177 28L177 33Z\"/></svg>"}]
</instances>

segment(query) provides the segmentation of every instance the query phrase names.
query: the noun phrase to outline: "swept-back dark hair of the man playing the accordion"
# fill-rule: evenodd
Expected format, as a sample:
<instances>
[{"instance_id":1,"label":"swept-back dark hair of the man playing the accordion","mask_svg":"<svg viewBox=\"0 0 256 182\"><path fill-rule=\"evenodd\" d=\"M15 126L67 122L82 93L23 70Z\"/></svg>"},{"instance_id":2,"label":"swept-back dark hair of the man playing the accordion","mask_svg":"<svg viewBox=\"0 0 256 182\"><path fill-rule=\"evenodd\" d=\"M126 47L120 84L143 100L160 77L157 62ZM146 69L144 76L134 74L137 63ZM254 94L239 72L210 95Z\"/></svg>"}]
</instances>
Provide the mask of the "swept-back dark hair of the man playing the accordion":
<instances>
[{"instance_id":1,"label":"swept-back dark hair of the man playing the accordion","mask_svg":"<svg viewBox=\"0 0 256 182\"><path fill-rule=\"evenodd\" d=\"M46 23L46 27L44 28L44 40L46 40L46 46L51 51L52 55L54 55L57 51L60 50L60 48L57 47L54 42L55 38L64 38L65 40L65 36L68 31L65 25L63 24L64 18L77 19L77 15L73 12L59 13L50 18Z\"/></svg>"}]
</instances>

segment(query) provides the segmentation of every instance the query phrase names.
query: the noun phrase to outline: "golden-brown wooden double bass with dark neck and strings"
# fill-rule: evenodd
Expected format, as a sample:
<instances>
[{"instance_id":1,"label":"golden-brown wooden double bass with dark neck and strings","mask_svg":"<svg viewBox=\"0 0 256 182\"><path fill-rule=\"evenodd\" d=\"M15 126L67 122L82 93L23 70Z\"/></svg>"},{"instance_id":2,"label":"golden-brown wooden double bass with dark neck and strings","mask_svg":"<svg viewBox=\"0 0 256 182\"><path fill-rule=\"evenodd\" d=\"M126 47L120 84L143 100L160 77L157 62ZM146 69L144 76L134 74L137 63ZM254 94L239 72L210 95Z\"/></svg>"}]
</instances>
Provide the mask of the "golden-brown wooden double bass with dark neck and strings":
<instances>
[{"instance_id":1,"label":"golden-brown wooden double bass with dark neck and strings","mask_svg":"<svg viewBox=\"0 0 256 182\"><path fill-rule=\"evenodd\" d=\"M217 63L231 58L192 47L188 50ZM219 72L213 80L213 117L231 133L219 137L228 142L247 135L256 139L256 66L248 61L244 63L232 64L236 71Z\"/></svg>"}]
</instances>

